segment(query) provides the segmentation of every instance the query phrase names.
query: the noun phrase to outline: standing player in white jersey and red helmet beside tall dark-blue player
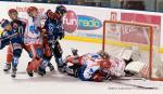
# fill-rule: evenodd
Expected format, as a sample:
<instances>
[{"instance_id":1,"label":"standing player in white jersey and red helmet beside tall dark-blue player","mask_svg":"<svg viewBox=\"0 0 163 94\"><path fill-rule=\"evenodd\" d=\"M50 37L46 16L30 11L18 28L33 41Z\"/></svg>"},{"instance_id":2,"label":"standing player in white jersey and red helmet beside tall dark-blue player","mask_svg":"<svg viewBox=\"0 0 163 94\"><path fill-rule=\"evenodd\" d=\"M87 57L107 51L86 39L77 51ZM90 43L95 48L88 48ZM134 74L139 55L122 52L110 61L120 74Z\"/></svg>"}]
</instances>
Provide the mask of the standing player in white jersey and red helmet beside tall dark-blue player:
<instances>
[{"instance_id":1,"label":"standing player in white jersey and red helmet beside tall dark-blue player","mask_svg":"<svg viewBox=\"0 0 163 94\"><path fill-rule=\"evenodd\" d=\"M41 21L47 16L39 13L35 6L27 9L28 24L27 30L24 33L24 48L32 57L32 62L28 63L27 73L33 77L35 70L39 68L41 64L49 64L47 57L51 56L50 48L43 40L41 33Z\"/></svg>"}]
</instances>

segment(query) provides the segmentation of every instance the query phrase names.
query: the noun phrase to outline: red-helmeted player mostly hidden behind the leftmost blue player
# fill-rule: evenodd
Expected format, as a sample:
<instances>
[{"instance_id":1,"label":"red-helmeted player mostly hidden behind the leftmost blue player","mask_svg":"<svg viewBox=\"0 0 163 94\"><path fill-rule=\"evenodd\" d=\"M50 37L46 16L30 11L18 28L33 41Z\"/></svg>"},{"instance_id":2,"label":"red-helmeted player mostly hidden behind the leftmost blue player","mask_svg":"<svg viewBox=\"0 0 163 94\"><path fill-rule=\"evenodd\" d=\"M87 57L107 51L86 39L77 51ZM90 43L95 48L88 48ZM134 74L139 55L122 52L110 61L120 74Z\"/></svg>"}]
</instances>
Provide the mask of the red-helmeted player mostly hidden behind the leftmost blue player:
<instances>
[{"instance_id":1,"label":"red-helmeted player mostly hidden behind the leftmost blue player","mask_svg":"<svg viewBox=\"0 0 163 94\"><path fill-rule=\"evenodd\" d=\"M26 27L25 19L18 17L18 12L15 9L10 9L8 11L8 14L10 18L12 19L11 26L14 29L22 31L21 35L23 39L23 35L24 35L25 27ZM5 62L3 71L9 71L11 69L12 58L13 58L13 49L12 49L12 45L9 44L8 53L7 53L7 62Z\"/></svg>"}]
</instances>

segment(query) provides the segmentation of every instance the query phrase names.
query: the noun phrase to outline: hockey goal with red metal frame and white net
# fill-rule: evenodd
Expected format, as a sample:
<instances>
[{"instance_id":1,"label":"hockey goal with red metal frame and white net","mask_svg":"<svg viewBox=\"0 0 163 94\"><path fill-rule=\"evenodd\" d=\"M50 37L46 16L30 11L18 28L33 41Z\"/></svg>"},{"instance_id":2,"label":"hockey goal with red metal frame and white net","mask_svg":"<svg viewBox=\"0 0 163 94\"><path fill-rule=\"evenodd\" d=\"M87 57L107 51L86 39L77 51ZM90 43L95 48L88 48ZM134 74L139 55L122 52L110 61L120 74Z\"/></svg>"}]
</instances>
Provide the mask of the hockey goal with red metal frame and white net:
<instances>
[{"instance_id":1,"label":"hockey goal with red metal frame and white net","mask_svg":"<svg viewBox=\"0 0 163 94\"><path fill-rule=\"evenodd\" d=\"M159 46L160 32L156 26L128 22L103 22L103 51L113 57L142 63L142 68L140 64L135 64L131 69L140 69L139 77L163 80L163 62Z\"/></svg>"}]
</instances>

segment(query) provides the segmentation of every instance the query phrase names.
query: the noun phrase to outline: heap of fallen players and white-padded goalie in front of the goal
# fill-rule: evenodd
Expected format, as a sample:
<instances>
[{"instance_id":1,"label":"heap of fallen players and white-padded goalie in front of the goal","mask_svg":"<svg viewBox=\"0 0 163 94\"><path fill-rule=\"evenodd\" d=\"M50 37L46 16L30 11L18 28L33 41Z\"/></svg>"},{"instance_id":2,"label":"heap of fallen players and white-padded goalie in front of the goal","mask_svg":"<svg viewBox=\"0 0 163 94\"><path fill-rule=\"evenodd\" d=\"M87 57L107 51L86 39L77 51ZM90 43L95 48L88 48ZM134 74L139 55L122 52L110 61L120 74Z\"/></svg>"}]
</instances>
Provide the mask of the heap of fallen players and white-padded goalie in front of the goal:
<instances>
[{"instance_id":1,"label":"heap of fallen players and white-padded goalie in front of the goal","mask_svg":"<svg viewBox=\"0 0 163 94\"><path fill-rule=\"evenodd\" d=\"M121 57L110 56L102 51L82 56L77 54L77 50L72 50L72 53L73 55L64 59L65 71L83 81L103 81L131 76L148 78L148 67L139 61L140 54L137 50L126 49L121 53Z\"/></svg>"}]
</instances>

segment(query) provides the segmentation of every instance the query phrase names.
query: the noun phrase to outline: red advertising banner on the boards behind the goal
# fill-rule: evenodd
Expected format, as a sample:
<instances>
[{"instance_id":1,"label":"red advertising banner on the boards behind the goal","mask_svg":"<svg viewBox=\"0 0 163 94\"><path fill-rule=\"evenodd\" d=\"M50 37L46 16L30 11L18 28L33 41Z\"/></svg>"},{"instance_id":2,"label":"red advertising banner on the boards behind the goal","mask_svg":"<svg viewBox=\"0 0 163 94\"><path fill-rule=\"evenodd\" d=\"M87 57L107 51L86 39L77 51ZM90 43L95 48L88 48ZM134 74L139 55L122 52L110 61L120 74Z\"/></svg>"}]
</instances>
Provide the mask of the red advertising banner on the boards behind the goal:
<instances>
[{"instance_id":1,"label":"red advertising banner on the boards behind the goal","mask_svg":"<svg viewBox=\"0 0 163 94\"><path fill-rule=\"evenodd\" d=\"M160 41L160 27L161 27L161 16L138 14L138 13L122 13L121 21L133 22L133 23L145 23L151 24L154 27L154 40ZM121 29L121 41L134 42L134 43L149 43L149 32L146 29L136 29L135 27L122 26Z\"/></svg>"}]
</instances>

